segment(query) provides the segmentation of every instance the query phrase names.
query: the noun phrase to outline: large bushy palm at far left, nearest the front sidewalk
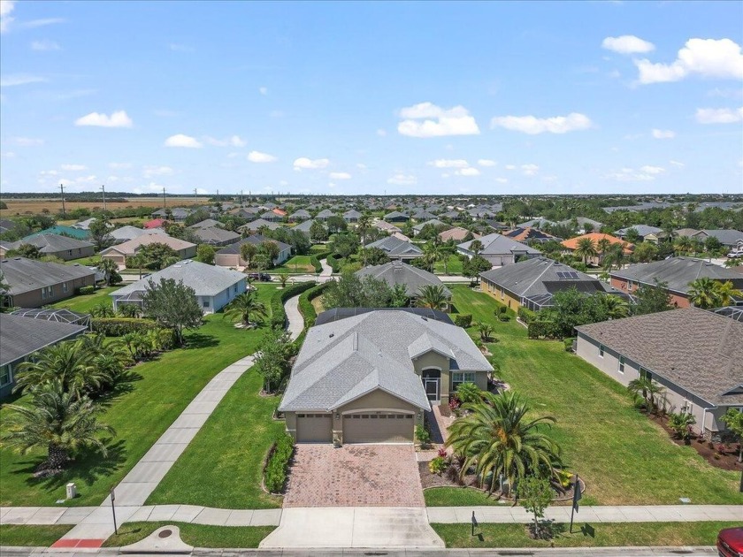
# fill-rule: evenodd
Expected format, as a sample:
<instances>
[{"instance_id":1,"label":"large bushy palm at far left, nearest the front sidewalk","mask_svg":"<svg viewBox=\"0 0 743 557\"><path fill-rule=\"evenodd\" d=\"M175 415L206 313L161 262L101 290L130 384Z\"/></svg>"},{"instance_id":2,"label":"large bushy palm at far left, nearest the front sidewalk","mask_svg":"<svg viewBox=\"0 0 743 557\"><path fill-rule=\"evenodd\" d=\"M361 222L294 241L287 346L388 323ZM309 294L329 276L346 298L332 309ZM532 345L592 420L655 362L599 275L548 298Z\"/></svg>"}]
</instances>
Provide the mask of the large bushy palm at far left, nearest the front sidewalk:
<instances>
[{"instance_id":1,"label":"large bushy palm at far left, nearest the front sidewalk","mask_svg":"<svg viewBox=\"0 0 743 557\"><path fill-rule=\"evenodd\" d=\"M30 406L8 404L6 408L13 412L0 439L21 454L45 448L48 453L42 469L61 469L70 454L83 446L95 446L105 457L106 446L99 434L116 435L110 425L98 422L100 408L88 396L76 397L59 380L39 386Z\"/></svg>"}]
</instances>

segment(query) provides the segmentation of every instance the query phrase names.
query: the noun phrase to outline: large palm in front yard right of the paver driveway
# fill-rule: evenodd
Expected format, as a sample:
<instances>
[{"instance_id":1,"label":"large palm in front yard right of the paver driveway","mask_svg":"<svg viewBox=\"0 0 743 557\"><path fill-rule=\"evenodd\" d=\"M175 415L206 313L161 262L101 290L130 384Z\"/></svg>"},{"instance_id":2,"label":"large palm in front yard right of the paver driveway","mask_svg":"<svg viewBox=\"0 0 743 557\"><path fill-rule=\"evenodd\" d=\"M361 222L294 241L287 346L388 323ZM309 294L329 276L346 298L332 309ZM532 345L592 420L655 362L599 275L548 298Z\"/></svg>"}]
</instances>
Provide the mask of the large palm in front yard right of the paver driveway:
<instances>
[{"instance_id":1,"label":"large palm in front yard right of the paver driveway","mask_svg":"<svg viewBox=\"0 0 743 557\"><path fill-rule=\"evenodd\" d=\"M468 416L449 427L446 446L464 457L461 476L474 466L481 484L486 475L508 478L510 485L530 474L555 476L560 447L542 431L555 423L552 416L526 419L530 408L517 393L482 393L482 401L464 404ZM489 486L493 492L494 482Z\"/></svg>"}]
</instances>

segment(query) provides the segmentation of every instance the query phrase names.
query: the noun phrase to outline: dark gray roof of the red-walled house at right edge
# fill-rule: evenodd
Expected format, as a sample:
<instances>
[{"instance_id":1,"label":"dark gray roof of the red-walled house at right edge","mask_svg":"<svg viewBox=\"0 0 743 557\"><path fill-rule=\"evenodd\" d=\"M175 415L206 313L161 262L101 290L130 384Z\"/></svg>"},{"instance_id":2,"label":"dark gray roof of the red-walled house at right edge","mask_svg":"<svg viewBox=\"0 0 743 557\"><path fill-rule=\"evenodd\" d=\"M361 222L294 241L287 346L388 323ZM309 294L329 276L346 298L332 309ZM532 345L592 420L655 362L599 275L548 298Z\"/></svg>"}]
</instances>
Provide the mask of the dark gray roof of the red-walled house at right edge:
<instances>
[{"instance_id":1,"label":"dark gray roof of the red-walled house at right edge","mask_svg":"<svg viewBox=\"0 0 743 557\"><path fill-rule=\"evenodd\" d=\"M690 282L701 277L730 280L734 286L743 288L743 276L739 272L693 257L671 257L653 263L636 263L626 269L611 271L610 274L612 277L648 285L654 285L655 279L658 279L667 282L669 290L682 294L688 292Z\"/></svg>"}]
</instances>

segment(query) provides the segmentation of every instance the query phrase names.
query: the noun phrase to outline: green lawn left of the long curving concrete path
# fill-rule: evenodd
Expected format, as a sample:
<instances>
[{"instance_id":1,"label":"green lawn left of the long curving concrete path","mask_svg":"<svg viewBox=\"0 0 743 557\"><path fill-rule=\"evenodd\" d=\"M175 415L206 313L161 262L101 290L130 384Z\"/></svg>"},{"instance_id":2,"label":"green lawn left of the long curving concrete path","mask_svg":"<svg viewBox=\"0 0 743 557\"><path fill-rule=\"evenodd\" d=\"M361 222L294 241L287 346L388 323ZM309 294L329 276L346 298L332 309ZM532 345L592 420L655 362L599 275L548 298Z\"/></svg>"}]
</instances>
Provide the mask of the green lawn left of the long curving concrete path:
<instances>
[{"instance_id":1,"label":"green lawn left of the long curving concrete path","mask_svg":"<svg viewBox=\"0 0 743 557\"><path fill-rule=\"evenodd\" d=\"M258 286L259 298L267 307L274 289L272 285ZM188 332L187 347L134 367L135 380L105 401L108 408L102 421L118 433L108 442L106 459L81 454L63 474L34 479L31 473L42 460L40 452L23 456L0 449L0 506L52 506L65 498L67 482L77 484L80 497L66 505L98 505L203 386L230 363L255 352L262 336L261 329L235 329L217 314L207 317L197 331ZM7 408L0 408L0 419L6 412Z\"/></svg>"}]
</instances>

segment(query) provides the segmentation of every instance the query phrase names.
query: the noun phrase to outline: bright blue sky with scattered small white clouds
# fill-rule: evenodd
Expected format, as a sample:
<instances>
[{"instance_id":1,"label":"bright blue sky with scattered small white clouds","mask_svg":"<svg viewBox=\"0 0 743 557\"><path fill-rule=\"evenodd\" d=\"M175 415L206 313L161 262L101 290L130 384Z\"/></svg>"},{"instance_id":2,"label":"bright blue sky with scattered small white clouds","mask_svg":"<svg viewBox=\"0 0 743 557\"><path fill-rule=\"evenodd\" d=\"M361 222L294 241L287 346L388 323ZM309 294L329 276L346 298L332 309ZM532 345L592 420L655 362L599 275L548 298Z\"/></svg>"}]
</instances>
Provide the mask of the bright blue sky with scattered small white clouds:
<instances>
[{"instance_id":1,"label":"bright blue sky with scattered small white clouds","mask_svg":"<svg viewBox=\"0 0 743 557\"><path fill-rule=\"evenodd\" d=\"M743 192L743 3L7 2L5 192Z\"/></svg>"}]
</instances>

